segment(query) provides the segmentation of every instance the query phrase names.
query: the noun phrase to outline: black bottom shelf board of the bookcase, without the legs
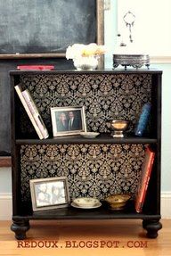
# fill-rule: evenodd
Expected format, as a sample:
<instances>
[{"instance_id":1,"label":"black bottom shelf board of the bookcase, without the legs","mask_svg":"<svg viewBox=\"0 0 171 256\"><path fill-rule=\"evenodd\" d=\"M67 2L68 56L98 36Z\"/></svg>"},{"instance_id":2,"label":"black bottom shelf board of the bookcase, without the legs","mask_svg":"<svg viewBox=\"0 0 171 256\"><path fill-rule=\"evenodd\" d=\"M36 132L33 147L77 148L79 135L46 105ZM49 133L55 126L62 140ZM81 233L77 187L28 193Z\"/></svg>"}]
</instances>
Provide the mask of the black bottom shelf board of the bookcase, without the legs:
<instances>
[{"instance_id":1,"label":"black bottom shelf board of the bookcase, without the legs","mask_svg":"<svg viewBox=\"0 0 171 256\"><path fill-rule=\"evenodd\" d=\"M76 209L71 206L48 211L35 211L28 215L13 216L13 219L157 219L160 215L136 213L133 209L111 211L101 206L98 209Z\"/></svg>"}]
</instances>

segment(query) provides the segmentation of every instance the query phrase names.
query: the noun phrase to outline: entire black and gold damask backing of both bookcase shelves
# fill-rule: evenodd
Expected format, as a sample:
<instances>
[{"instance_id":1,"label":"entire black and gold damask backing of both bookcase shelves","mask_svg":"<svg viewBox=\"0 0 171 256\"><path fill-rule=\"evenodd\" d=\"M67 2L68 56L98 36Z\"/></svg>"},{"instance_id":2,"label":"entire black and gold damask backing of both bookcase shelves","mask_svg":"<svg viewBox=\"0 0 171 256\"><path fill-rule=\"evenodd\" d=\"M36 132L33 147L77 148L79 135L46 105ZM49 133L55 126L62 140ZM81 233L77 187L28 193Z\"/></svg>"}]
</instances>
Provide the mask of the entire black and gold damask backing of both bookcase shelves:
<instances>
[{"instance_id":1,"label":"entire black and gold damask backing of both bookcase shelves","mask_svg":"<svg viewBox=\"0 0 171 256\"><path fill-rule=\"evenodd\" d=\"M142 105L151 102L151 74L38 74L21 75L52 132L50 108L85 106L89 131L110 132L106 121L130 121L134 130ZM20 108L20 132L33 128ZM21 197L30 201L29 179L67 176L71 198L109 194L135 194L144 155L144 145L21 145Z\"/></svg>"}]
</instances>

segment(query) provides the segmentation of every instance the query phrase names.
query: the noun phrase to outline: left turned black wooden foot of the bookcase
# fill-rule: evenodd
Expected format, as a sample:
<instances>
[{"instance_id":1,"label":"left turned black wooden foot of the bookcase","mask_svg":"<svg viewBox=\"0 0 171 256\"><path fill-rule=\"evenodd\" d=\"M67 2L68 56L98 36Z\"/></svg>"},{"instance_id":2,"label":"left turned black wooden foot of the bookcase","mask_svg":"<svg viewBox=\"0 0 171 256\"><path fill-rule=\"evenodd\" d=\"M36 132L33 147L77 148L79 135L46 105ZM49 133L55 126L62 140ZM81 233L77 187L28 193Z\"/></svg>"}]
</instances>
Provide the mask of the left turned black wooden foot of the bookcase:
<instances>
[{"instance_id":1,"label":"left turned black wooden foot of the bookcase","mask_svg":"<svg viewBox=\"0 0 171 256\"><path fill-rule=\"evenodd\" d=\"M18 240L22 240L26 238L26 232L29 229L29 220L13 220L12 231L15 233L15 238Z\"/></svg>"}]
</instances>

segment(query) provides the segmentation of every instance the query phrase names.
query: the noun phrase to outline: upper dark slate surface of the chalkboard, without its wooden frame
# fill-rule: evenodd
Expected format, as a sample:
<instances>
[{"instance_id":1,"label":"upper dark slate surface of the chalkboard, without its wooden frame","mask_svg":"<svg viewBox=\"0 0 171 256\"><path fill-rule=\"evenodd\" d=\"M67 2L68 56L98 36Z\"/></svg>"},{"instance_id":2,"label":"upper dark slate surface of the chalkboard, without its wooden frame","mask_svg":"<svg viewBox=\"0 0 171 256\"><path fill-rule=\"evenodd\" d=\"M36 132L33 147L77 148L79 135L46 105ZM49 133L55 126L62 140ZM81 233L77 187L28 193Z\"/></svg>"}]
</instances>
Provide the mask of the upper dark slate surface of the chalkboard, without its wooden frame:
<instances>
[{"instance_id":1,"label":"upper dark slate surface of the chalkboard, without its wooden frame","mask_svg":"<svg viewBox=\"0 0 171 256\"><path fill-rule=\"evenodd\" d=\"M0 1L0 54L61 53L96 41L96 0Z\"/></svg>"}]
</instances>

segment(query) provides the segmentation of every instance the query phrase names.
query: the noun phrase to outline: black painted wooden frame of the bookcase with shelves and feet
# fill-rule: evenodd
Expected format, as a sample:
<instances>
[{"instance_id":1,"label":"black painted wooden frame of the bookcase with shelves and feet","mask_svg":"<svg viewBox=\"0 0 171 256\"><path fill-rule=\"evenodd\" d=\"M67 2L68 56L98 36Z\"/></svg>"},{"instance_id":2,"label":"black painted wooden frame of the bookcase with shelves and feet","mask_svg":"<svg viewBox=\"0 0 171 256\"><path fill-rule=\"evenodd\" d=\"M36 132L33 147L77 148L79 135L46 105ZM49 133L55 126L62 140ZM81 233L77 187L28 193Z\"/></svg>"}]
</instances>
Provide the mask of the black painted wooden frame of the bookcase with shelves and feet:
<instances>
[{"instance_id":1,"label":"black painted wooden frame of the bookcase with shelves and feet","mask_svg":"<svg viewBox=\"0 0 171 256\"><path fill-rule=\"evenodd\" d=\"M76 71L45 71L45 74L61 74L61 73L75 73ZM102 134L94 139L87 139L81 136L66 136L66 137L50 137L45 140L33 138L16 137L16 125L20 125L18 120L18 108L20 101L14 92L14 85L19 82L22 74L40 74L40 71L12 71L11 87L12 87L12 197L13 197L13 225L12 231L19 230L20 235L16 235L17 239L25 238L25 231L28 225L26 222L29 219L143 219L142 227L147 230L147 236L156 238L158 231L161 228L159 223L160 216L160 146L161 146L161 71L158 70L95 70L95 71L79 71L82 74L141 74L148 73L152 76L151 85L151 103L152 103L152 121L150 137L135 137L127 135L125 138L117 139L110 136L110 134ZM157 129L157 132L156 132ZM153 133L154 131L154 133ZM152 136L152 134L154 134ZM150 184L147 191L146 200L142 209L142 213L134 211L134 202L130 204L123 211L110 211L110 209L102 202L102 207L94 210L80 210L72 207L66 209L57 209L53 211L37 211L33 212L31 209L31 202L24 203L20 196L20 145L48 145L48 144L149 144L156 152L153 170L151 173ZM21 222L20 222L21 221ZM20 224L21 223L21 224ZM28 223L28 222L27 222Z\"/></svg>"}]
</instances>

